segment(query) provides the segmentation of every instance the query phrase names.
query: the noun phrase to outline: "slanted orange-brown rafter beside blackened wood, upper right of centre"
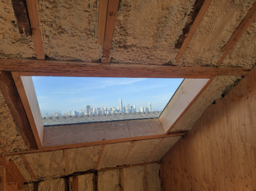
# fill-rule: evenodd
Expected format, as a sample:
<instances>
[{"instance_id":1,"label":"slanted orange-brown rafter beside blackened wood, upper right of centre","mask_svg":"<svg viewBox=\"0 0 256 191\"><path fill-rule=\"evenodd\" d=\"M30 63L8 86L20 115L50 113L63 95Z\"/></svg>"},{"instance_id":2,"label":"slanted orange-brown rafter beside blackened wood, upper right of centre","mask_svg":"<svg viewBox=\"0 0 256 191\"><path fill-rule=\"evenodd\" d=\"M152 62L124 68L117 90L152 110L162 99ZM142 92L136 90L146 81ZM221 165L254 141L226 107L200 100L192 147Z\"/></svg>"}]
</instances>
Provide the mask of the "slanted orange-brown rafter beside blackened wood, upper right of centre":
<instances>
[{"instance_id":1,"label":"slanted orange-brown rafter beside blackened wood, upper right of centre","mask_svg":"<svg viewBox=\"0 0 256 191\"><path fill-rule=\"evenodd\" d=\"M197 29L197 27L199 26L201 20L203 19L209 5L211 4L211 0L205 0L204 4L202 5L202 8L200 9L198 15L195 18L195 21L192 25L192 27L190 28L187 37L185 38L177 56L176 56L176 62L179 62L179 59L183 56L185 50L187 49L189 42L191 41L192 37L195 34L195 31Z\"/></svg>"}]
</instances>

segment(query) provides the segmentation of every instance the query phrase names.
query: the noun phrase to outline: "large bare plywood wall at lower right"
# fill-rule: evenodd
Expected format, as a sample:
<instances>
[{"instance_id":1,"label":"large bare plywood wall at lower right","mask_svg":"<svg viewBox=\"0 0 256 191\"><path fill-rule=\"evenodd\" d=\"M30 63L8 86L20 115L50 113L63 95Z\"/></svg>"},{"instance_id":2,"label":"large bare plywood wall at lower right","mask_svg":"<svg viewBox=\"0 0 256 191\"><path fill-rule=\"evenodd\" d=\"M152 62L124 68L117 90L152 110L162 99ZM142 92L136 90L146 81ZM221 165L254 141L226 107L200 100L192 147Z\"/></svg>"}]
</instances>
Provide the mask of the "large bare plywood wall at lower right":
<instances>
[{"instance_id":1,"label":"large bare plywood wall at lower right","mask_svg":"<svg viewBox=\"0 0 256 191\"><path fill-rule=\"evenodd\" d=\"M256 191L256 68L162 162L165 191Z\"/></svg>"}]
</instances>

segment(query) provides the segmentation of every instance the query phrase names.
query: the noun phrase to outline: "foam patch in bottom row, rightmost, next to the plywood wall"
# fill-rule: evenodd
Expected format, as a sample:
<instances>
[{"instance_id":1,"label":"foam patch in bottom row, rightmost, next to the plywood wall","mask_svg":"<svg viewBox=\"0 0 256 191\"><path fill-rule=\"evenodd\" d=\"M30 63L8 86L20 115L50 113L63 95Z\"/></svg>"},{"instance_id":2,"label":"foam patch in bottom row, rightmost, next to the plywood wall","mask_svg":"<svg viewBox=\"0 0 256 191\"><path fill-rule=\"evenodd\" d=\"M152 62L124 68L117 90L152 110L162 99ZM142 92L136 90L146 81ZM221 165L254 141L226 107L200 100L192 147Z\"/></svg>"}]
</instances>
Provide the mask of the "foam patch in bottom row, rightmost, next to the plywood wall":
<instances>
[{"instance_id":1,"label":"foam patch in bottom row, rightmost, next to the plywood wall","mask_svg":"<svg viewBox=\"0 0 256 191\"><path fill-rule=\"evenodd\" d=\"M147 165L148 191L161 191L160 164Z\"/></svg>"}]
</instances>

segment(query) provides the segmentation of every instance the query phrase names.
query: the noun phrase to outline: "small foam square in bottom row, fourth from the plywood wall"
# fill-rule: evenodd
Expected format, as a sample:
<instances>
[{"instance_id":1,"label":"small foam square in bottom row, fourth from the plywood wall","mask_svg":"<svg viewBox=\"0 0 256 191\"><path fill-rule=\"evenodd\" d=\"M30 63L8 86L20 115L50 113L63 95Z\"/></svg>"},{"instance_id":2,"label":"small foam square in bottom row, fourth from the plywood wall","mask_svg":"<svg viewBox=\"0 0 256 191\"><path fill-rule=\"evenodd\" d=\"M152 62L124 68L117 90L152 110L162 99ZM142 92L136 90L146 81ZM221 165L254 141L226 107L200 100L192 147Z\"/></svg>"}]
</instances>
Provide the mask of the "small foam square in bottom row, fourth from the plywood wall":
<instances>
[{"instance_id":1,"label":"small foam square in bottom row, fourth from the plywood wall","mask_svg":"<svg viewBox=\"0 0 256 191\"><path fill-rule=\"evenodd\" d=\"M78 191L94 191L93 174L78 176Z\"/></svg>"}]
</instances>

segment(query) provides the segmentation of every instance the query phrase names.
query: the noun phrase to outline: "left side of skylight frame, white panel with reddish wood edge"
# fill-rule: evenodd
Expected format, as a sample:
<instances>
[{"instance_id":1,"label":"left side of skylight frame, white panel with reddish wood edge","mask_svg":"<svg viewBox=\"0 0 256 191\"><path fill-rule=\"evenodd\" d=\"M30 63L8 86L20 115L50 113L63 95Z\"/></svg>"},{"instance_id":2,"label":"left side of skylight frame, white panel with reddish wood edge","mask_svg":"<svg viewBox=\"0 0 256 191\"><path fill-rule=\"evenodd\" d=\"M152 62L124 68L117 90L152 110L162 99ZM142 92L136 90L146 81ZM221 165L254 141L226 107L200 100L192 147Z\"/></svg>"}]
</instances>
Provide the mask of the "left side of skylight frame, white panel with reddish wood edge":
<instances>
[{"instance_id":1,"label":"left side of skylight frame, white panel with reddish wood edge","mask_svg":"<svg viewBox=\"0 0 256 191\"><path fill-rule=\"evenodd\" d=\"M44 124L42 122L32 77L20 76L19 72L11 72L11 74L19 92L22 105L26 111L37 147L38 149L42 149Z\"/></svg>"}]
</instances>

